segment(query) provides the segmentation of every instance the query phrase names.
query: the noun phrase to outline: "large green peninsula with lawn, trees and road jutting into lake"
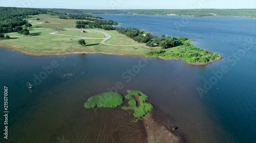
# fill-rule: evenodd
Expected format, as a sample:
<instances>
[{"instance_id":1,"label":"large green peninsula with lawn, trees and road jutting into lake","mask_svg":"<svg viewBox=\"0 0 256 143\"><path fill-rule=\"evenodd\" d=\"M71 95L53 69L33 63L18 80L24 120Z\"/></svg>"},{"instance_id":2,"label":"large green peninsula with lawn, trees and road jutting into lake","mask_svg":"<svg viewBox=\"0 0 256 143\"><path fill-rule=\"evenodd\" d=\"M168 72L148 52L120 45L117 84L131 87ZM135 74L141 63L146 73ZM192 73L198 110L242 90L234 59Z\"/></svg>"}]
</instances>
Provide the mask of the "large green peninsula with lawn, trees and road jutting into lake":
<instances>
[{"instance_id":1,"label":"large green peninsula with lawn, trees and road jutting into lake","mask_svg":"<svg viewBox=\"0 0 256 143\"><path fill-rule=\"evenodd\" d=\"M56 11L0 7L0 46L30 55L106 53L176 59L193 65L221 59L220 54L194 46L186 37L158 37L138 28L114 27L117 22L91 14Z\"/></svg>"}]
</instances>

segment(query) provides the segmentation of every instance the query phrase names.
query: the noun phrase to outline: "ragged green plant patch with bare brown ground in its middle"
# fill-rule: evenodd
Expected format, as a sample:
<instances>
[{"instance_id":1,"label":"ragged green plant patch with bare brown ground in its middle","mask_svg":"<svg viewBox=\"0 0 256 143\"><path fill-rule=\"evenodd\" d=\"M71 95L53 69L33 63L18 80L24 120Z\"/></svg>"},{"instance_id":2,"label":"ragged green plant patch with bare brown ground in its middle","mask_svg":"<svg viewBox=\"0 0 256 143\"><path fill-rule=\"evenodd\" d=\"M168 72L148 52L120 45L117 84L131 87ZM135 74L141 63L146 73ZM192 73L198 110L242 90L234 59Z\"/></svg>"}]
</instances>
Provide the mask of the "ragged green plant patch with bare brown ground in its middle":
<instances>
[{"instance_id":1,"label":"ragged green plant patch with bare brown ground in its middle","mask_svg":"<svg viewBox=\"0 0 256 143\"><path fill-rule=\"evenodd\" d=\"M153 110L153 105L146 103L148 96L142 91L128 90L128 95L125 96L129 100L128 106L123 106L124 110L134 110L135 121L140 120L147 112Z\"/></svg>"}]
</instances>

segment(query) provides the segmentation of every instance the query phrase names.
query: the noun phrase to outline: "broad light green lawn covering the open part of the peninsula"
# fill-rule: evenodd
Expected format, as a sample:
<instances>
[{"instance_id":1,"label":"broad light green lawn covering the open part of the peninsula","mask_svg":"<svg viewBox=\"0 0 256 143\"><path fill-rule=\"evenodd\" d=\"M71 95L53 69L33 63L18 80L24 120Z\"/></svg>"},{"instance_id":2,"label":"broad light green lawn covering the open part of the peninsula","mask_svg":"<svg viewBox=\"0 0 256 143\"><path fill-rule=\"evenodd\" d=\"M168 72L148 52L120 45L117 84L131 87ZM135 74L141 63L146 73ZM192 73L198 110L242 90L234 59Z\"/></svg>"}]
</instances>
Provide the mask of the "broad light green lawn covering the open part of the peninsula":
<instances>
[{"instance_id":1,"label":"broad light green lawn covering the open part of the peninsula","mask_svg":"<svg viewBox=\"0 0 256 143\"><path fill-rule=\"evenodd\" d=\"M5 35L19 36L21 38L0 40L0 46L6 47L15 51L20 51L30 55L53 55L53 54L69 54L69 53L110 53L110 54L123 54L123 55L145 55L150 49L143 46L109 46L103 45L100 42L102 39L86 39L87 46L83 47L78 44L80 38L51 35L50 33L56 32L52 30L29 28L31 36L22 36L18 33L8 33ZM74 34L78 30L61 31L56 34ZM80 33L80 31L78 31ZM81 33L86 34L86 33ZM95 34L95 36L94 36ZM90 37L104 36L100 33L90 33ZM129 39L127 39L129 40ZM123 41L119 41L122 43Z\"/></svg>"}]
</instances>

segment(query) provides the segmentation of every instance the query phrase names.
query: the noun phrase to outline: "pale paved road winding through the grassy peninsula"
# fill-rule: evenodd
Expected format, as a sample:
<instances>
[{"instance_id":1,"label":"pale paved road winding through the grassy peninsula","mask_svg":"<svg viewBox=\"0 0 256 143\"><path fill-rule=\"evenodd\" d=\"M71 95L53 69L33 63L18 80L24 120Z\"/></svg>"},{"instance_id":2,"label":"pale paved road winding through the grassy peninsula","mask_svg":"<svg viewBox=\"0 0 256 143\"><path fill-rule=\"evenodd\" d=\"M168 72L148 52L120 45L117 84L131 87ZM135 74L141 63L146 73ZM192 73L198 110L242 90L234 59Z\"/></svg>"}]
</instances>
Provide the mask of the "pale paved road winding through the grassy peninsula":
<instances>
[{"instance_id":1,"label":"pale paved road winding through the grassy peninsula","mask_svg":"<svg viewBox=\"0 0 256 143\"><path fill-rule=\"evenodd\" d=\"M37 28L37 29L48 29L50 30L49 28ZM64 29L64 30L79 30L79 29ZM79 30L80 31L80 30ZM72 36L72 35L63 35L63 34L55 34L55 33L50 33L50 34L53 34L53 35L61 35L61 36L71 36L71 37L78 37L78 38L82 38L82 39L103 39L101 41L102 44L104 45L109 45L109 46L144 46L146 44L140 44L140 45L114 45L114 44L108 44L108 43L105 43L107 40L109 40L111 38L111 35L108 34L108 33L105 33L105 32L102 32L102 31L95 31L95 30L88 30L89 32L98 32L98 33L101 33L103 35L105 35L106 38L88 38L88 37L80 37L80 36Z\"/></svg>"}]
</instances>

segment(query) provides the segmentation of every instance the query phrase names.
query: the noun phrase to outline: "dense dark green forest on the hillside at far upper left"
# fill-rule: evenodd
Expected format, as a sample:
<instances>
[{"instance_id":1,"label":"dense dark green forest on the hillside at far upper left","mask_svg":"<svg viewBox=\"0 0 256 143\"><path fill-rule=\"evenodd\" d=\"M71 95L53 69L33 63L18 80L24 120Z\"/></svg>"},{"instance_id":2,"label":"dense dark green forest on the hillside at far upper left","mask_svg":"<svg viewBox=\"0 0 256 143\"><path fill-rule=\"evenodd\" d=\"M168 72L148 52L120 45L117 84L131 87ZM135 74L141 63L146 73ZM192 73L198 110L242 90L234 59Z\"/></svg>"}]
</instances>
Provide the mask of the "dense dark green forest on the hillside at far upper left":
<instances>
[{"instance_id":1,"label":"dense dark green forest on the hillside at far upper left","mask_svg":"<svg viewBox=\"0 0 256 143\"><path fill-rule=\"evenodd\" d=\"M0 33L17 32L17 26L26 24L29 15L45 14L40 9L0 7Z\"/></svg>"}]
</instances>

